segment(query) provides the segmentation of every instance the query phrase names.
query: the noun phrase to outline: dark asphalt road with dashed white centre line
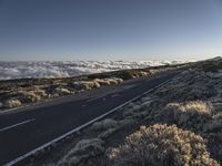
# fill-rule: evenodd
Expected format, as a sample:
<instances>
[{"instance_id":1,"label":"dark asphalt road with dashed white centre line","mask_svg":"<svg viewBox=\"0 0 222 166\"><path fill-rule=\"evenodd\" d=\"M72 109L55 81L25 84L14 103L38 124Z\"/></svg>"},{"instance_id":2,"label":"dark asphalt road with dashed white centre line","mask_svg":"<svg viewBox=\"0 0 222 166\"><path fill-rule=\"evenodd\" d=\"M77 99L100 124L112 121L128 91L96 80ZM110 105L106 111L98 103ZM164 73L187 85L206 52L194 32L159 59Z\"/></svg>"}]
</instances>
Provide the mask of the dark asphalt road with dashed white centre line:
<instances>
[{"instance_id":1,"label":"dark asphalt road with dashed white centre line","mask_svg":"<svg viewBox=\"0 0 222 166\"><path fill-rule=\"evenodd\" d=\"M44 104L0 113L0 165L85 124L172 79L178 72L91 90Z\"/></svg>"}]
</instances>

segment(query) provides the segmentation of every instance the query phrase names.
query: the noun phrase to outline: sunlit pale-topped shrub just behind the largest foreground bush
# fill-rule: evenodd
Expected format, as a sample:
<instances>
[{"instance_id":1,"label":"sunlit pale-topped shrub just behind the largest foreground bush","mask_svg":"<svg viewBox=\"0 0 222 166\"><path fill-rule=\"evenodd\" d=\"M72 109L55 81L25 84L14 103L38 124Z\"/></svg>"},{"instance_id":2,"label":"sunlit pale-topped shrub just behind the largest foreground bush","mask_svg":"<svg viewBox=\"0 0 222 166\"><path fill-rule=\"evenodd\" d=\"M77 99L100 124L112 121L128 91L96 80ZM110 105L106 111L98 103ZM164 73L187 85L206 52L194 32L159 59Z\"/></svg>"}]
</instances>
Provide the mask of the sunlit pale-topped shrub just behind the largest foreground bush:
<instances>
[{"instance_id":1,"label":"sunlit pale-topped shrub just behind the largest foreground bush","mask_svg":"<svg viewBox=\"0 0 222 166\"><path fill-rule=\"evenodd\" d=\"M161 112L158 120L173 123L184 128L202 129L212 117L212 105L203 101L170 103Z\"/></svg>"}]
</instances>

